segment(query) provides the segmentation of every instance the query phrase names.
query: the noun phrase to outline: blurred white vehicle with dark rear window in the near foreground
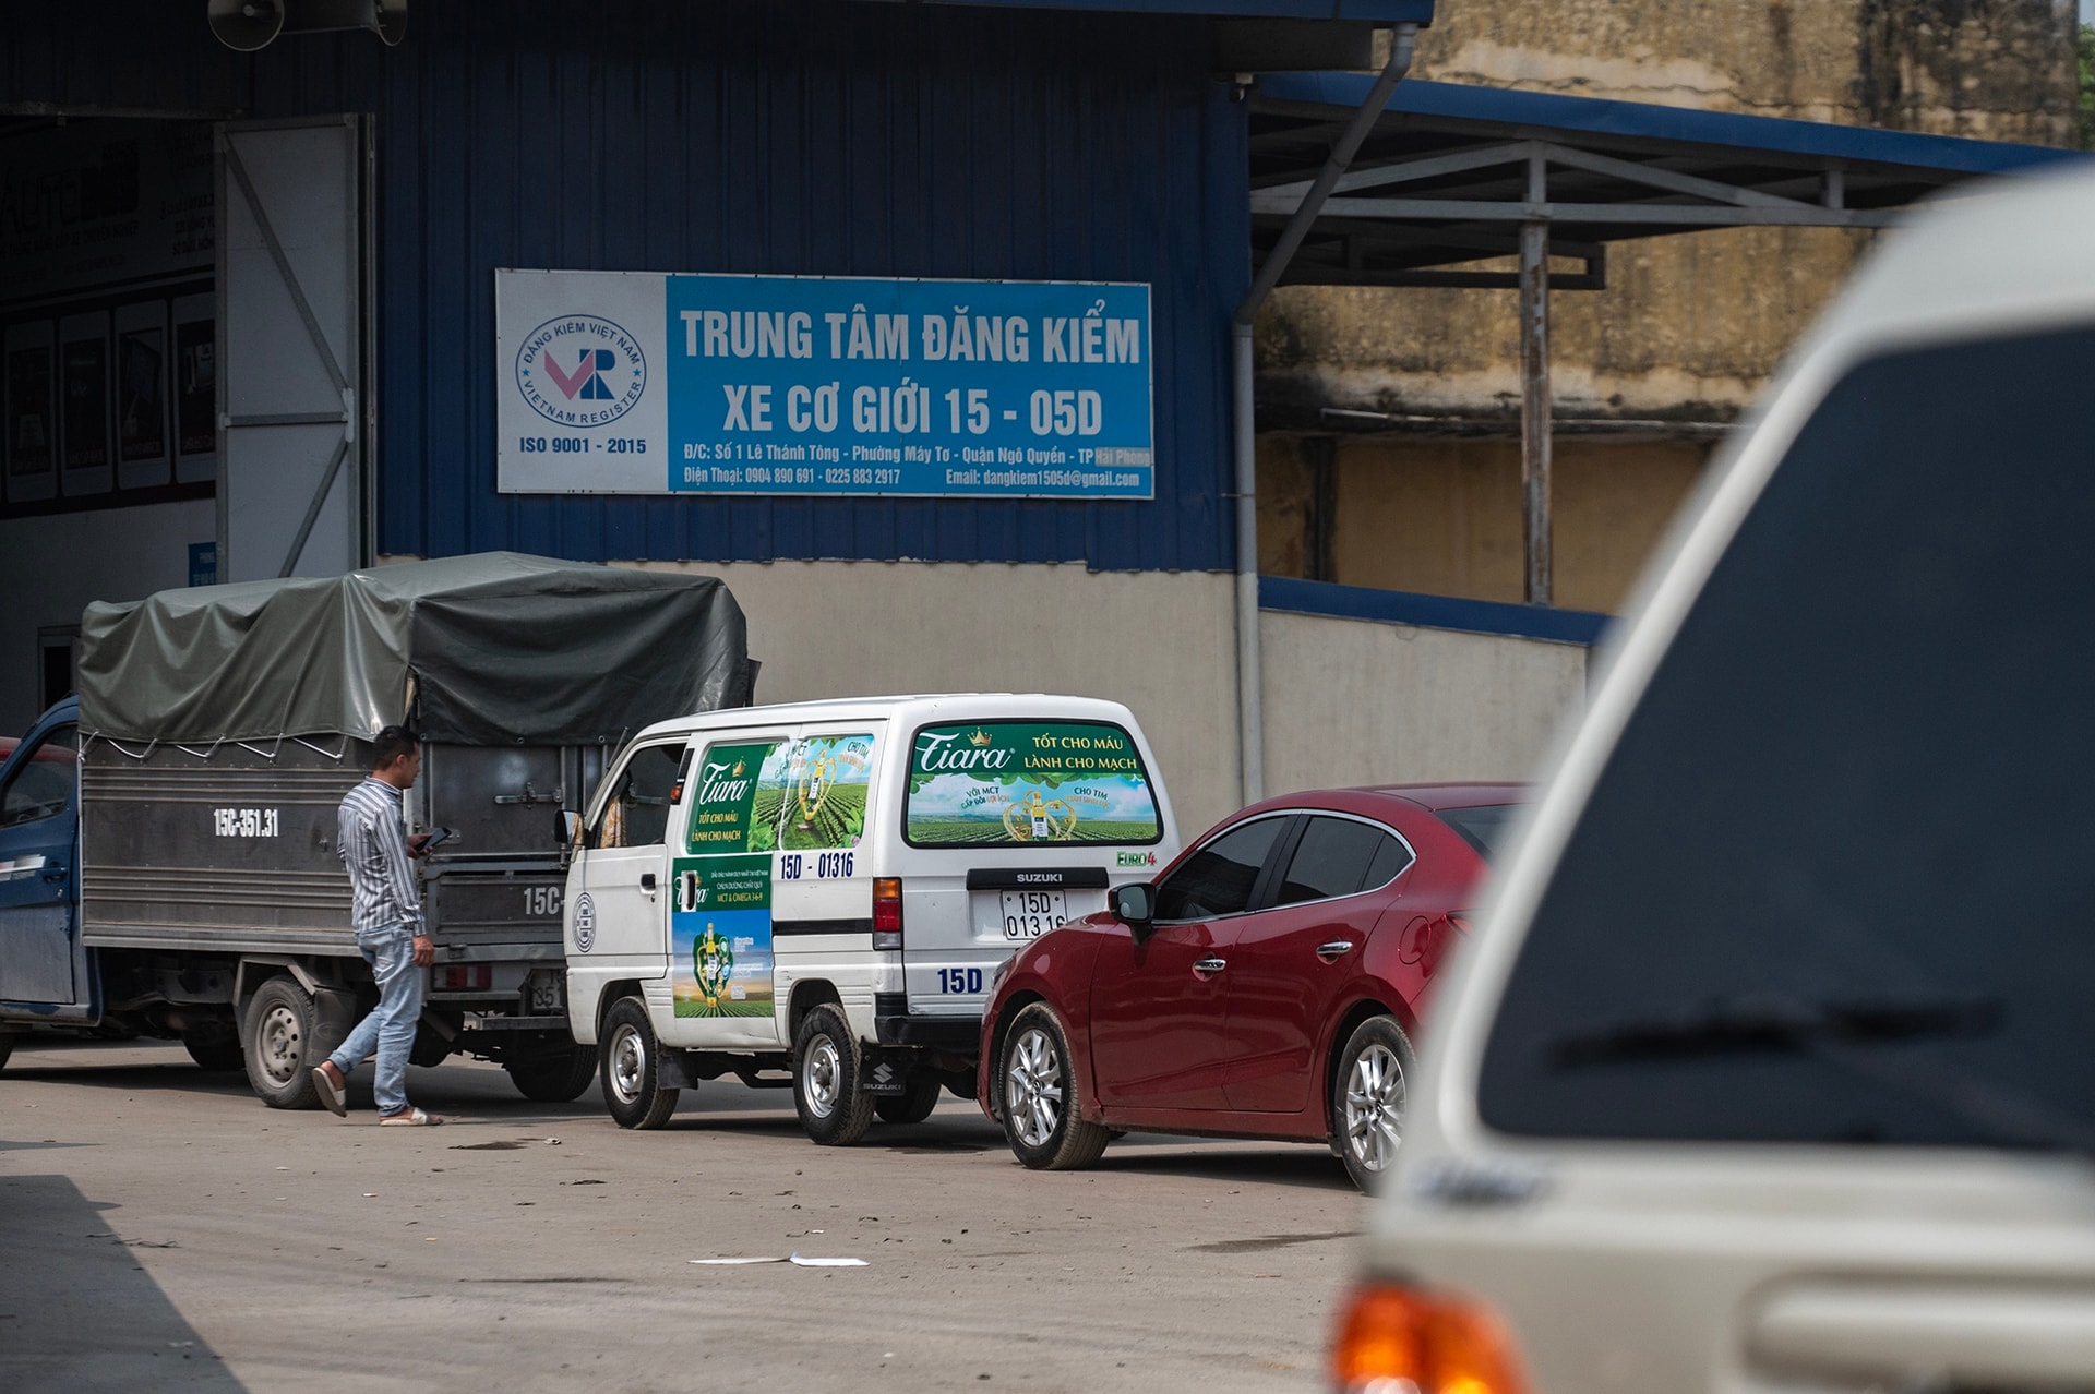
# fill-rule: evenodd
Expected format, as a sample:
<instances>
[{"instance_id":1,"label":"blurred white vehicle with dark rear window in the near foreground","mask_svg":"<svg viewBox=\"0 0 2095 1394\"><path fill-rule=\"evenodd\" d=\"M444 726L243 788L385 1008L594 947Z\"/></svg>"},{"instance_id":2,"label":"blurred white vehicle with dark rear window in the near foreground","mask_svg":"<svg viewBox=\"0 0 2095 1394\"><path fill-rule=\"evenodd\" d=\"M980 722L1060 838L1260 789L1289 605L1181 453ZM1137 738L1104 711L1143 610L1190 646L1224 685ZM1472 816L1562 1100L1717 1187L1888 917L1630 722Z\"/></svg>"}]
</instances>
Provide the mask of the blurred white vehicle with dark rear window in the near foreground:
<instances>
[{"instance_id":1,"label":"blurred white vehicle with dark rear window in the near foreground","mask_svg":"<svg viewBox=\"0 0 2095 1394\"><path fill-rule=\"evenodd\" d=\"M1892 234L1653 578L1335 1384L2095 1390L2095 176Z\"/></svg>"}]
</instances>

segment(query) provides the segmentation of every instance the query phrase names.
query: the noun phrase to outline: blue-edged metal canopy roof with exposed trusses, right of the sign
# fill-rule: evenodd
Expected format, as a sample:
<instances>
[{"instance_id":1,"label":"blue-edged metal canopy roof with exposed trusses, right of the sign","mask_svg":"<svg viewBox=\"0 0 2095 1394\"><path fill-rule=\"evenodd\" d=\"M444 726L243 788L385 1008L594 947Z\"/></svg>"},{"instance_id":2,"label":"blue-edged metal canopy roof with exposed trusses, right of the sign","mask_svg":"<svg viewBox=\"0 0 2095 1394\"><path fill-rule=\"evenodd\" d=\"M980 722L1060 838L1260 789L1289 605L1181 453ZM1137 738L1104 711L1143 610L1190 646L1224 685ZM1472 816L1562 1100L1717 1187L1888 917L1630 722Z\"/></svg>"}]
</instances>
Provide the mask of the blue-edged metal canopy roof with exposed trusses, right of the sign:
<instances>
[{"instance_id":1,"label":"blue-edged metal canopy roof with exposed trusses, right of the sign","mask_svg":"<svg viewBox=\"0 0 2095 1394\"><path fill-rule=\"evenodd\" d=\"M1301 203L1372 77L1261 77L1251 107L1253 262ZM2087 159L2078 151L1404 82L1320 209L1282 283L1510 287L1446 270L1517 255L1548 224L1552 289L1605 285L1605 245L1737 226L1879 228L1959 180Z\"/></svg>"}]
</instances>

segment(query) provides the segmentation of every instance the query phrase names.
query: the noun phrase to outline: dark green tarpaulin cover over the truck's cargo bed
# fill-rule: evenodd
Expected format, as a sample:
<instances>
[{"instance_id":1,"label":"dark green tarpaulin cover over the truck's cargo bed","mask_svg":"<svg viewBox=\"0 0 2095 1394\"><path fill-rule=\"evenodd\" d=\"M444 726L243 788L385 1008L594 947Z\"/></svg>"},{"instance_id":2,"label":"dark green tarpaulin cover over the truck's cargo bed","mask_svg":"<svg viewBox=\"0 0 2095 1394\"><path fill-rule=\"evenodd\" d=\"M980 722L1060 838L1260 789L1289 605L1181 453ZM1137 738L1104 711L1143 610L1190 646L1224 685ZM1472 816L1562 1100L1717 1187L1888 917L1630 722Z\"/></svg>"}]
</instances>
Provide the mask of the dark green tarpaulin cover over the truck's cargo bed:
<instances>
[{"instance_id":1,"label":"dark green tarpaulin cover over the truck's cargo bed","mask_svg":"<svg viewBox=\"0 0 2095 1394\"><path fill-rule=\"evenodd\" d=\"M482 553L90 605L84 733L134 741L595 745L750 699L742 607L710 576Z\"/></svg>"}]
</instances>

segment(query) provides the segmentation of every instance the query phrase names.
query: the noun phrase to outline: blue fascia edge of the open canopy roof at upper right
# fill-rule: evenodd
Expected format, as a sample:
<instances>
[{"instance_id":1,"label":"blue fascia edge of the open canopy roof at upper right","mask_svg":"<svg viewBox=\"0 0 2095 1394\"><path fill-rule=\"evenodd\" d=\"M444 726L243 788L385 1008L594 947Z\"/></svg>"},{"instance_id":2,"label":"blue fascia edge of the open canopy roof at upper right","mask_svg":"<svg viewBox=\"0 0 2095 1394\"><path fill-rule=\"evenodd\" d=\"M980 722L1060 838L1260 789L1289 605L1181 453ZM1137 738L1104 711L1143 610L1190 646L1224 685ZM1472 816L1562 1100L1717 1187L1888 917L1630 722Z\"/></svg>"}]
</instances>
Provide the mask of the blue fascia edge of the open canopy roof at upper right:
<instances>
[{"instance_id":1,"label":"blue fascia edge of the open canopy roof at upper right","mask_svg":"<svg viewBox=\"0 0 2095 1394\"><path fill-rule=\"evenodd\" d=\"M1272 73L1259 77L1257 90L1261 96L1286 103L1360 107L1370 86L1374 86L1374 77L1360 73ZM1697 111L1693 107L1659 107L1601 96L1561 96L1557 92L1515 92L1456 82L1402 82L1391 94L1387 111L1464 121L1554 126L1594 136L1678 140L1741 151L1953 170L1959 174L2005 174L2034 165L2089 159L2082 151L2049 144L1929 136L1875 126L1835 126L1833 121Z\"/></svg>"}]
</instances>

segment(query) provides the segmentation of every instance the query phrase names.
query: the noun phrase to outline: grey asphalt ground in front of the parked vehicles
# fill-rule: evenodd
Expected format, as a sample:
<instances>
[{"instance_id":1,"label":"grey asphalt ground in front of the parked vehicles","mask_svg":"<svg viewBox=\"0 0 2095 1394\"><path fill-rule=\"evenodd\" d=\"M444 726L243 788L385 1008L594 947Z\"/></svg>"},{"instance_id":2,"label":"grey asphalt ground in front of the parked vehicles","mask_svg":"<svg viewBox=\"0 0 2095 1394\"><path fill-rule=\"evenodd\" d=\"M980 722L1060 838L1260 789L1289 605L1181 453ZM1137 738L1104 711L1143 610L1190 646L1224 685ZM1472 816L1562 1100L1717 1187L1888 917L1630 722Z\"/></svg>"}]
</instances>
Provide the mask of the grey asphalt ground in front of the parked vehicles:
<instances>
[{"instance_id":1,"label":"grey asphalt ground in front of the parked vehicles","mask_svg":"<svg viewBox=\"0 0 2095 1394\"><path fill-rule=\"evenodd\" d=\"M0 1070L0 1390L1320 1390L1366 1201L1320 1147L1135 1134L1020 1168L972 1101L815 1147L786 1091L624 1132L264 1107L174 1044ZM700 1266L693 1258L863 1258Z\"/></svg>"}]
</instances>

